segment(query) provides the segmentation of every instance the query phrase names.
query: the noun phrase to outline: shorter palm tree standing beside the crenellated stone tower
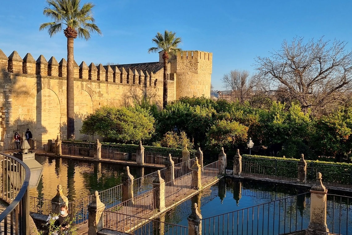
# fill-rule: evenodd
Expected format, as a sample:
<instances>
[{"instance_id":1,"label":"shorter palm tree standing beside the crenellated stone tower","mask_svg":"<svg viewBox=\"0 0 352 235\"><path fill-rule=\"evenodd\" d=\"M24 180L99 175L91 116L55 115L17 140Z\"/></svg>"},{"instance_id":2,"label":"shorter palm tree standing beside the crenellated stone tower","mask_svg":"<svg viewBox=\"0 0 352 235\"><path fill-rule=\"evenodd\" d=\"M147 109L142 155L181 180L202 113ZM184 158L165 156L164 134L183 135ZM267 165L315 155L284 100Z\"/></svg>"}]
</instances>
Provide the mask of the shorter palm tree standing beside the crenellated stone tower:
<instances>
[{"instance_id":1,"label":"shorter palm tree standing beside the crenellated stone tower","mask_svg":"<svg viewBox=\"0 0 352 235\"><path fill-rule=\"evenodd\" d=\"M163 108L166 107L168 103L168 60L170 56L175 55L177 52L182 51L178 46L181 44L182 40L180 37L176 37L176 33L172 31L165 30L164 34L157 33L152 39L152 42L157 45L157 47L151 47L148 53L164 51L164 82L163 82Z\"/></svg>"}]
</instances>

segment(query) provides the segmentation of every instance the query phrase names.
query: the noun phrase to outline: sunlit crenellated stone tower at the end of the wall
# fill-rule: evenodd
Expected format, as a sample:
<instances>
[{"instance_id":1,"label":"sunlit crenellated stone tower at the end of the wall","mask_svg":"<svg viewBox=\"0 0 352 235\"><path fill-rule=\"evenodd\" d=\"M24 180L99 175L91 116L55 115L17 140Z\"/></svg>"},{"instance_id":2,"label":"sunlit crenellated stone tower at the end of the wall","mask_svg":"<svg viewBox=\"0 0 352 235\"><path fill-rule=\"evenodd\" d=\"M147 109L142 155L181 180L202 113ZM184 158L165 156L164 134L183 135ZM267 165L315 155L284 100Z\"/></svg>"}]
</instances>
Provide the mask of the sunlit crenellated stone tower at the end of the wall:
<instances>
[{"instance_id":1,"label":"sunlit crenellated stone tower at the end of the wall","mask_svg":"<svg viewBox=\"0 0 352 235\"><path fill-rule=\"evenodd\" d=\"M162 61L162 52L159 53ZM174 81L174 90L178 100L183 96L210 97L213 53L204 51L182 51L170 58L169 82ZM171 94L170 94L171 95Z\"/></svg>"}]
</instances>

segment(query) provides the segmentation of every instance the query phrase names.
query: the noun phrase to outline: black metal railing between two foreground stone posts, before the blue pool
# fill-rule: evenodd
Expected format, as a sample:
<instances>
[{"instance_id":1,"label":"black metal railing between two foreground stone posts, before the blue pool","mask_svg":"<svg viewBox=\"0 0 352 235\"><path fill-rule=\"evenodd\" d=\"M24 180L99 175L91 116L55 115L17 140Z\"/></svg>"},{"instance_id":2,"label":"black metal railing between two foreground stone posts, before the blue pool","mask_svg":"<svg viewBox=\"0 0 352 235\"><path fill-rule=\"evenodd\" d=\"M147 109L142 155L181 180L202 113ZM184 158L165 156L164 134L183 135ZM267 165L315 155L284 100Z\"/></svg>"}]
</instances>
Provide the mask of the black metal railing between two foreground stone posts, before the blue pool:
<instances>
[{"instance_id":1,"label":"black metal railing between two foreground stone posts, before the blue pool","mask_svg":"<svg viewBox=\"0 0 352 235\"><path fill-rule=\"evenodd\" d=\"M307 193L203 218L202 234L288 234L308 227Z\"/></svg>"}]
</instances>

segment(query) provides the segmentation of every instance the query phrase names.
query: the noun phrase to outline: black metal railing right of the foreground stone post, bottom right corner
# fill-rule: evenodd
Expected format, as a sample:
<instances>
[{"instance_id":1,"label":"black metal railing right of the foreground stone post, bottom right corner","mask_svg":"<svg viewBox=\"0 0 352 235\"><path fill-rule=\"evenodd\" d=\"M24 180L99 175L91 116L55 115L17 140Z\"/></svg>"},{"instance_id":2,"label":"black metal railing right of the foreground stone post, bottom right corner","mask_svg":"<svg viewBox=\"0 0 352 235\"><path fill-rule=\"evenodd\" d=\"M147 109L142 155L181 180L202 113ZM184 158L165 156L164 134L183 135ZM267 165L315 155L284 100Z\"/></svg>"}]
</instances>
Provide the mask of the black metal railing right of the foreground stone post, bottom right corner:
<instances>
[{"instance_id":1,"label":"black metal railing right of the foreground stone post, bottom right corner","mask_svg":"<svg viewBox=\"0 0 352 235\"><path fill-rule=\"evenodd\" d=\"M329 233L352 234L352 197L327 195L326 224Z\"/></svg>"}]
</instances>

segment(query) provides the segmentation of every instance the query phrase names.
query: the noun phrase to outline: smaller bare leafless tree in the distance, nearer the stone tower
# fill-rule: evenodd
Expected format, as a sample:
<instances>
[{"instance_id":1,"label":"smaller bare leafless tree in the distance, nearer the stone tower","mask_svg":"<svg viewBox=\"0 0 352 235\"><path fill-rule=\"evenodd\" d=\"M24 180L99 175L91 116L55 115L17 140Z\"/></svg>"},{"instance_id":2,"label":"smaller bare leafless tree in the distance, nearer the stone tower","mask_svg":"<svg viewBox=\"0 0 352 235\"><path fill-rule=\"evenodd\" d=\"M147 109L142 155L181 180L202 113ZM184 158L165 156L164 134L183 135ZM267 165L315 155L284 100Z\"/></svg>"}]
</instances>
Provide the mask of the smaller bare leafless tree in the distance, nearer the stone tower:
<instances>
[{"instance_id":1,"label":"smaller bare leafless tree in the distance, nearer the stone tower","mask_svg":"<svg viewBox=\"0 0 352 235\"><path fill-rule=\"evenodd\" d=\"M231 90L229 96L233 100L244 103L254 94L254 77L250 76L247 70L231 70L228 74L224 74L221 81L225 89Z\"/></svg>"}]
</instances>

